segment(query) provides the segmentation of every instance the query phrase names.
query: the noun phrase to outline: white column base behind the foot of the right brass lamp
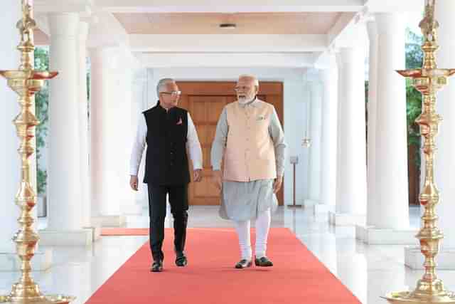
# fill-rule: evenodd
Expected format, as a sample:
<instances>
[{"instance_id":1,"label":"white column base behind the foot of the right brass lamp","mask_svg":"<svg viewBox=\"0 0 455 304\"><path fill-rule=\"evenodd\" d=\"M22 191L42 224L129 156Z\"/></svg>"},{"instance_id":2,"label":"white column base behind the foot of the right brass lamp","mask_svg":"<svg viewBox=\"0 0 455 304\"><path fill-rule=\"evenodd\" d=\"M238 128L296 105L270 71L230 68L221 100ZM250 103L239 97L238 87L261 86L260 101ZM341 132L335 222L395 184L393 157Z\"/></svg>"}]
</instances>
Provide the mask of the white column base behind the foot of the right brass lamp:
<instances>
[{"instance_id":1,"label":"white column base behind the foot of the right brass lamp","mask_svg":"<svg viewBox=\"0 0 455 304\"><path fill-rule=\"evenodd\" d=\"M436 256L438 270L455 270L455 248L441 248ZM405 265L412 269L424 269L424 255L418 246L405 248Z\"/></svg>"}]
</instances>

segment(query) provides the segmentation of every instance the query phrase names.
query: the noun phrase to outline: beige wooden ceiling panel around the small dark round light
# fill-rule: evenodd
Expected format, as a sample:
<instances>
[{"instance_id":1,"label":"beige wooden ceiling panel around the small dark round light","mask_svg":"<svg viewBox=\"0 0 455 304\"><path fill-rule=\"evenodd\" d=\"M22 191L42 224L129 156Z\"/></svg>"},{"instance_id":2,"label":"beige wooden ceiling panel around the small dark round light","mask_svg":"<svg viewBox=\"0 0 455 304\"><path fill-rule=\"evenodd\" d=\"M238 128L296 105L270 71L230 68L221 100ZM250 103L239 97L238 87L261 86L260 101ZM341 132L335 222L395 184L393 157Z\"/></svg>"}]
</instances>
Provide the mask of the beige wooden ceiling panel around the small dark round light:
<instances>
[{"instance_id":1,"label":"beige wooden ceiling panel around the small dark round light","mask_svg":"<svg viewBox=\"0 0 455 304\"><path fill-rule=\"evenodd\" d=\"M325 34L341 13L114 13L129 34ZM219 28L235 23L237 28Z\"/></svg>"}]
</instances>

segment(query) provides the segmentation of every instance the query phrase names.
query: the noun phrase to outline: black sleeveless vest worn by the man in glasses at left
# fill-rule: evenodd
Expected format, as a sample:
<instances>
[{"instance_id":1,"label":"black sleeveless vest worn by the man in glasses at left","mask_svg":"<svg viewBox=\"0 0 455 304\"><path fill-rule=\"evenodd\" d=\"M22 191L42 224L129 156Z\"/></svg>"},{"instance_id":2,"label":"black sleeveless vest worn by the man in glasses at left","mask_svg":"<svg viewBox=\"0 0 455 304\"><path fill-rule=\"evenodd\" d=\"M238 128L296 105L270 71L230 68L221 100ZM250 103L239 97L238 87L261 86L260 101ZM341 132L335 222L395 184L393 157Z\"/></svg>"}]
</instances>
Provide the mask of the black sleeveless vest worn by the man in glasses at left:
<instances>
[{"instance_id":1,"label":"black sleeveless vest worn by the man in glasses at left","mask_svg":"<svg viewBox=\"0 0 455 304\"><path fill-rule=\"evenodd\" d=\"M188 112L176 107L166 111L158 102L143 114L147 125L144 183L188 184Z\"/></svg>"}]
</instances>

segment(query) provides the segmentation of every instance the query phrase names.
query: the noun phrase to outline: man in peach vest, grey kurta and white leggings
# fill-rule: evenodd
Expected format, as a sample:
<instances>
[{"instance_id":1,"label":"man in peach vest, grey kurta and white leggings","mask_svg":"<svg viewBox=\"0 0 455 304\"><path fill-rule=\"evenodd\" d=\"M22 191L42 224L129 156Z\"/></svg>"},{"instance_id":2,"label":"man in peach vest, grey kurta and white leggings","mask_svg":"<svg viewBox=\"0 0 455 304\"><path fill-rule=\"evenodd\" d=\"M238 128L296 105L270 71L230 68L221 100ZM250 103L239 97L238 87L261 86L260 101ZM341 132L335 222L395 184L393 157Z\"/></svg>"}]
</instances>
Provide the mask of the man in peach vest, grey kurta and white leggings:
<instances>
[{"instance_id":1,"label":"man in peach vest, grey kurta and white leggings","mask_svg":"<svg viewBox=\"0 0 455 304\"><path fill-rule=\"evenodd\" d=\"M286 143L274 106L259 100L259 81L240 75L237 101L225 106L211 151L213 182L221 191L220 216L235 223L242 258L252 266L250 223L256 219L255 265L273 266L266 255L272 211L282 187ZM221 173L221 162L224 170Z\"/></svg>"}]
</instances>

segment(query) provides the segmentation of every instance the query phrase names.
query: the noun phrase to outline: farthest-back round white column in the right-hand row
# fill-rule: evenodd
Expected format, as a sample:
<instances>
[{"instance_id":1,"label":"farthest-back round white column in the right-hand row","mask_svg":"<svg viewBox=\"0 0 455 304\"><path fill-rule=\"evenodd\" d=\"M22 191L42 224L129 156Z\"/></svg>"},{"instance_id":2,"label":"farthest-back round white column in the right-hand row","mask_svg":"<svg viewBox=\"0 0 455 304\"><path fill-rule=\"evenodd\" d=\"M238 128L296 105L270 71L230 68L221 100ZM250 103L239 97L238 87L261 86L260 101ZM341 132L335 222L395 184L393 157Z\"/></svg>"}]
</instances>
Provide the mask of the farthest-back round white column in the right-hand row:
<instances>
[{"instance_id":1,"label":"farthest-back round white column in the right-hand row","mask_svg":"<svg viewBox=\"0 0 455 304\"><path fill-rule=\"evenodd\" d=\"M332 56L334 57L334 56ZM332 61L335 58L333 58ZM322 132L321 132L321 204L316 206L315 213L333 211L336 190L336 63L321 70L323 83Z\"/></svg>"}]
</instances>

